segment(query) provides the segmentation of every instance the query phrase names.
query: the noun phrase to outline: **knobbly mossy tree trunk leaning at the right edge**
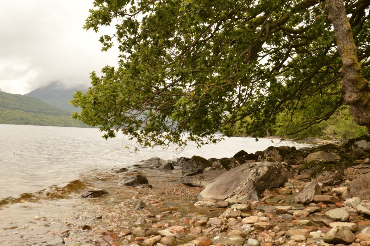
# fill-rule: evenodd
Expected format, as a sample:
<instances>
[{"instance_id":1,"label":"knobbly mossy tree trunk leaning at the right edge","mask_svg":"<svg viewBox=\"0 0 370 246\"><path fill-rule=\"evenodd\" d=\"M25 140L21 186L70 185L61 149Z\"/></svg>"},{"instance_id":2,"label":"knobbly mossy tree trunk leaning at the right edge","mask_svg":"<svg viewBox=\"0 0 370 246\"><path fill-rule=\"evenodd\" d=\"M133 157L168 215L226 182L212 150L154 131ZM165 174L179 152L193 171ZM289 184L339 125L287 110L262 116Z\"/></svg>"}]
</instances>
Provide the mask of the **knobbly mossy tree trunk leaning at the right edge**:
<instances>
[{"instance_id":1,"label":"knobbly mossy tree trunk leaning at the right edge","mask_svg":"<svg viewBox=\"0 0 370 246\"><path fill-rule=\"evenodd\" d=\"M334 26L337 50L342 58L342 88L344 101L350 105L354 121L367 127L370 134L370 89L369 82L362 77L352 29L347 19L343 0L327 0L325 9Z\"/></svg>"}]
</instances>

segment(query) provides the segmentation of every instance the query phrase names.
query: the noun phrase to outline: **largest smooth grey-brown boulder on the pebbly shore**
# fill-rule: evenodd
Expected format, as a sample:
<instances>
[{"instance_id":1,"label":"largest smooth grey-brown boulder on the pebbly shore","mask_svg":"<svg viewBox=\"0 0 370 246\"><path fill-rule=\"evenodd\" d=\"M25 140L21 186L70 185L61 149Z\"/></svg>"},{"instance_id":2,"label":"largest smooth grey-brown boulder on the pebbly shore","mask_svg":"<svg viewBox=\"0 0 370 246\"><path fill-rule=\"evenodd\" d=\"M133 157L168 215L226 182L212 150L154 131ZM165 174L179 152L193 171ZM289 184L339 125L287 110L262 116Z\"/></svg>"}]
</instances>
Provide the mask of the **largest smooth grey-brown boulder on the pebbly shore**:
<instances>
[{"instance_id":1,"label":"largest smooth grey-brown boulder on the pebbly shore","mask_svg":"<svg viewBox=\"0 0 370 246\"><path fill-rule=\"evenodd\" d=\"M245 163L216 178L199 193L198 199L259 200L265 189L283 186L289 174L280 162Z\"/></svg>"}]
</instances>

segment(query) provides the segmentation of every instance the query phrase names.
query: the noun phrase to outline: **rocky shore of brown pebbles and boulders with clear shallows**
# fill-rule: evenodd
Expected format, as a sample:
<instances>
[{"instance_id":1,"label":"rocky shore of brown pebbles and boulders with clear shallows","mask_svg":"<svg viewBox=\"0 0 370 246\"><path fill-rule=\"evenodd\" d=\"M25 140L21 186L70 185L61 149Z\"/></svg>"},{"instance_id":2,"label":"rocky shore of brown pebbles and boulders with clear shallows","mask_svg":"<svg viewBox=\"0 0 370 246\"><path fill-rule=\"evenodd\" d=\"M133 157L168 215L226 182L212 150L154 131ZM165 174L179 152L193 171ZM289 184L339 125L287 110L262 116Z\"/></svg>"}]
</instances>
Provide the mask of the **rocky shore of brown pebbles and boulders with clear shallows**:
<instances>
[{"instance_id":1,"label":"rocky shore of brown pebbles and boulders with clear shallows","mask_svg":"<svg viewBox=\"0 0 370 246\"><path fill-rule=\"evenodd\" d=\"M73 199L74 216L38 216L37 228L48 227L38 237L26 236L27 225L5 228L0 245L367 246L369 171L370 137L222 159L152 158L114 168Z\"/></svg>"}]
</instances>

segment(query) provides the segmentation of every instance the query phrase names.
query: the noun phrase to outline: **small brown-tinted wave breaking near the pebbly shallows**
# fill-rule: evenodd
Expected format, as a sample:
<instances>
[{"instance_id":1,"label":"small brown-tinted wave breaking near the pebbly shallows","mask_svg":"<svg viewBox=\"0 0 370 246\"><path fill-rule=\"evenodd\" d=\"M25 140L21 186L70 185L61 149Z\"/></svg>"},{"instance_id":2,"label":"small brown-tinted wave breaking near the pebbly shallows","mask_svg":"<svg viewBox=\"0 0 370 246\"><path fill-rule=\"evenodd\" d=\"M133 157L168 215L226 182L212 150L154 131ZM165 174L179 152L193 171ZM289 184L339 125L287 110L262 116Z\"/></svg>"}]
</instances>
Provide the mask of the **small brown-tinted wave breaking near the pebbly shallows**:
<instances>
[{"instance_id":1,"label":"small brown-tinted wave breaking near the pebbly shallows","mask_svg":"<svg viewBox=\"0 0 370 246\"><path fill-rule=\"evenodd\" d=\"M64 186L52 185L37 192L23 193L19 197L9 196L0 199L0 208L13 203L42 202L43 200L71 198L81 190L91 187L97 181L101 181L101 173L85 173L80 179L71 181Z\"/></svg>"}]
</instances>

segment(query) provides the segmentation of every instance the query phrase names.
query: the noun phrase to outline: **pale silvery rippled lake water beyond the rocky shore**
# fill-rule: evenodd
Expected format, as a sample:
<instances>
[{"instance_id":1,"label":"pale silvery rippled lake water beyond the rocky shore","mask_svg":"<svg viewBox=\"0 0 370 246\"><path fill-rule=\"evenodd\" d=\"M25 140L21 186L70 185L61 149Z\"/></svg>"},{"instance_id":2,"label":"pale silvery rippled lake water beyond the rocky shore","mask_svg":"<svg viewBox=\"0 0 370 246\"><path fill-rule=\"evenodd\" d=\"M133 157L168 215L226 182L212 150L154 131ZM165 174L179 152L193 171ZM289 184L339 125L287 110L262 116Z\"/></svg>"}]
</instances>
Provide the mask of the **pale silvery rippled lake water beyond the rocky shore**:
<instances>
[{"instance_id":1,"label":"pale silvery rippled lake water beyond the rocky shore","mask_svg":"<svg viewBox=\"0 0 370 246\"><path fill-rule=\"evenodd\" d=\"M152 157L199 155L208 159L231 157L241 149L254 153L271 145L309 146L277 139L256 142L254 138L232 137L202 148L188 145L181 153L176 153L175 147L145 148L133 153L124 146L134 142L123 135L105 140L96 128L0 124L0 134L0 206L20 199L62 198L67 189L99 179L99 173L117 166L130 167Z\"/></svg>"}]
</instances>

